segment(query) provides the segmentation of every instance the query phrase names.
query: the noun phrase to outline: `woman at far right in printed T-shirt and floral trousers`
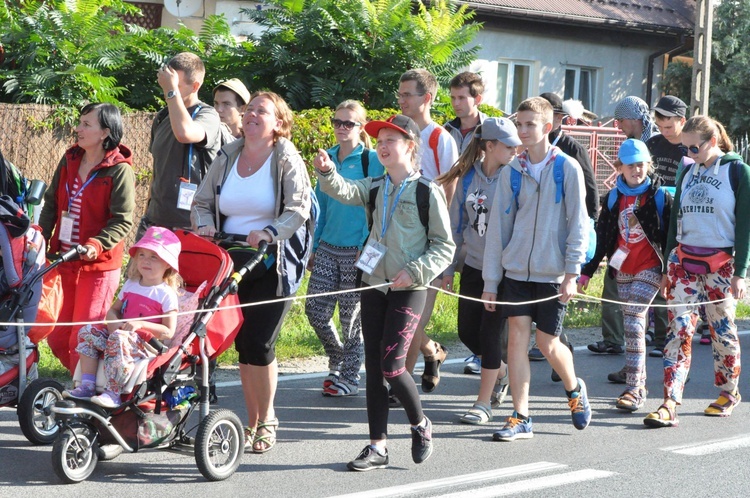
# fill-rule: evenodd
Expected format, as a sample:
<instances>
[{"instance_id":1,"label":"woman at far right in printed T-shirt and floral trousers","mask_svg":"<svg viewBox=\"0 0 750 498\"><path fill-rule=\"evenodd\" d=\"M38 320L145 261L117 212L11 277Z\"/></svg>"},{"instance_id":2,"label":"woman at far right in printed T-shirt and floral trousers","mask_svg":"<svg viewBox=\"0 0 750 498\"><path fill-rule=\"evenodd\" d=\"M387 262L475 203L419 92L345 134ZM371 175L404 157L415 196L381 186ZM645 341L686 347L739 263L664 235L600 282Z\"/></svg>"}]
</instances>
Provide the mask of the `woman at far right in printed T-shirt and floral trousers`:
<instances>
[{"instance_id":1,"label":"woman at far right in printed T-shirt and floral trousers","mask_svg":"<svg viewBox=\"0 0 750 498\"><path fill-rule=\"evenodd\" d=\"M682 129L687 157L695 161L678 170L673 216L665 253L667 273L661 292L669 305L664 348L664 402L643 423L676 427L677 405L692 357L695 314L705 303L718 399L704 413L728 417L740 402L740 341L737 300L747 294L750 259L750 167L732 153L724 127L707 116L693 116Z\"/></svg>"}]
</instances>

